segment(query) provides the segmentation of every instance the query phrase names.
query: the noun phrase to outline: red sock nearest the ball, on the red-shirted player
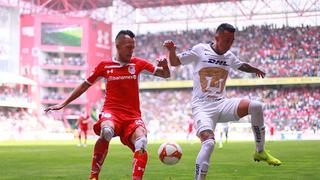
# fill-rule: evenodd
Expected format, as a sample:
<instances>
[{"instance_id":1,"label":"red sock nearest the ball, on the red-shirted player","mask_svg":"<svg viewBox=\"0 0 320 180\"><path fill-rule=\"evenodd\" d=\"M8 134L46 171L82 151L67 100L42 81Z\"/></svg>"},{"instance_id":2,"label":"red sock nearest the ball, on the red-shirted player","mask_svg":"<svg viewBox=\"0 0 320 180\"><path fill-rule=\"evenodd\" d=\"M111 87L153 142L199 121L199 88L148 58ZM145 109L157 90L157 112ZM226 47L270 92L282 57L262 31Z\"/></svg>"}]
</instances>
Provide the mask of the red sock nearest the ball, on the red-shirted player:
<instances>
[{"instance_id":1,"label":"red sock nearest the ball, on the red-shirted player","mask_svg":"<svg viewBox=\"0 0 320 180\"><path fill-rule=\"evenodd\" d=\"M148 161L147 151L136 151L133 155L132 180L141 180Z\"/></svg>"}]
</instances>

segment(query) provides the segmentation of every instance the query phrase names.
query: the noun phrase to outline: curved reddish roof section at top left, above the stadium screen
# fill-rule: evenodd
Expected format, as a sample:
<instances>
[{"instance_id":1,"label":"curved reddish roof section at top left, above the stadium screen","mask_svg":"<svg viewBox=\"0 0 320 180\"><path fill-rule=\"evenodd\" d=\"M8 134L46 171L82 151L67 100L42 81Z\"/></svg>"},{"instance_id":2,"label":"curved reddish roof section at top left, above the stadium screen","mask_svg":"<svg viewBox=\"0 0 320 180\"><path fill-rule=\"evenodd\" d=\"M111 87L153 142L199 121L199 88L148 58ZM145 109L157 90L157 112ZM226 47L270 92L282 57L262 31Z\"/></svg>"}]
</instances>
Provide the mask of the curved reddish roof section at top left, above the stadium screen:
<instances>
[{"instance_id":1,"label":"curved reddish roof section at top left, above the stadium screen","mask_svg":"<svg viewBox=\"0 0 320 180\"><path fill-rule=\"evenodd\" d=\"M112 6L113 0L23 0L41 8L60 12L91 10Z\"/></svg>"}]
</instances>

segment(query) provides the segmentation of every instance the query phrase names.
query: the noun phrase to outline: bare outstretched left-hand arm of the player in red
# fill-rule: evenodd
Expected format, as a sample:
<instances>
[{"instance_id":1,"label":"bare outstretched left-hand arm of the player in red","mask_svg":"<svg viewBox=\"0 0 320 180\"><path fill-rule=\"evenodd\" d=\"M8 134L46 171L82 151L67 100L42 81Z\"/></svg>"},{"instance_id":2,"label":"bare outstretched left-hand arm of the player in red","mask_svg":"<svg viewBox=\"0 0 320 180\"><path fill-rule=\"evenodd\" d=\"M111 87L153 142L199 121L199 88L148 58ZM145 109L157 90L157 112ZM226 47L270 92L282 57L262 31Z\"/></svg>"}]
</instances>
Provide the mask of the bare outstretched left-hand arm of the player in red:
<instances>
[{"instance_id":1,"label":"bare outstretched left-hand arm of the player in red","mask_svg":"<svg viewBox=\"0 0 320 180\"><path fill-rule=\"evenodd\" d=\"M48 111L51 110L60 110L63 107L65 107L66 105L68 105L69 103L71 103L73 100L77 99L79 96L81 96L81 94L83 94L85 91L87 91L87 89L90 87L91 85L89 83L87 83L86 81L84 81L82 84L80 84L77 88L75 88L71 95L61 104L57 104L54 106L50 106L48 108L46 108L44 111L47 113Z\"/></svg>"}]
</instances>

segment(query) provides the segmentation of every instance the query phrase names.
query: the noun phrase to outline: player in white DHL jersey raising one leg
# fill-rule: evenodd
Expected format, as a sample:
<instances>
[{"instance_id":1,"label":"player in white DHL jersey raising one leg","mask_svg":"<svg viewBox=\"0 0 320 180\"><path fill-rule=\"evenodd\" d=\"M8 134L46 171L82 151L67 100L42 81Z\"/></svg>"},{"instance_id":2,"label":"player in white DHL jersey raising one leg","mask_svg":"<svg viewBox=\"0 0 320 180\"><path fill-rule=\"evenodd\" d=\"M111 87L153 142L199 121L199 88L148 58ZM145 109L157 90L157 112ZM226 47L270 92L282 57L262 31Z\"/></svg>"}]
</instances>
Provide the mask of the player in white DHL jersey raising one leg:
<instances>
[{"instance_id":1,"label":"player in white DHL jersey raising one leg","mask_svg":"<svg viewBox=\"0 0 320 180\"><path fill-rule=\"evenodd\" d=\"M196 160L195 179L205 179L210 157L214 149L214 130L217 122L229 122L251 115L252 130L255 137L255 161L266 161L279 166L281 161L271 156L265 149L265 127L262 104L249 99L226 98L225 84L230 68L247 73L255 73L264 78L265 73L248 63L240 61L231 51L235 28L227 23L221 24L215 33L215 42L197 44L190 50L176 54L172 40L164 42L169 51L171 66L193 63L192 116L201 140L201 149Z\"/></svg>"}]
</instances>

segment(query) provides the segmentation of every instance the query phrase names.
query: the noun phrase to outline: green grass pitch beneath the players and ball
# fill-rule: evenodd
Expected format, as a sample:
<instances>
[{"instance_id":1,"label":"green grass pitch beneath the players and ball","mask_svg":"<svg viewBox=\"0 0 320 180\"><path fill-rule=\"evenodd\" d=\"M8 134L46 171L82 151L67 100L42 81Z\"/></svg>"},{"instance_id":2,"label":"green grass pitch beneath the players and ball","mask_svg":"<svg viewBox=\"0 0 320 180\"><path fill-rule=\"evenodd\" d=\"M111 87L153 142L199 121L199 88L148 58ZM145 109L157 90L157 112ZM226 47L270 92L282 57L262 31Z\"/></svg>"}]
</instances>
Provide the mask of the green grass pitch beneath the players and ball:
<instances>
[{"instance_id":1,"label":"green grass pitch beneath the players and ball","mask_svg":"<svg viewBox=\"0 0 320 180\"><path fill-rule=\"evenodd\" d=\"M88 179L93 143L87 148L76 142L0 142L0 179ZM161 164L159 144L149 144L149 162L145 180L193 179L194 161L199 143L179 143L183 150L177 165ZM274 141L267 148L282 161L279 167L252 159L253 142L229 142L216 148L207 179L237 180L316 180L320 179L320 141ZM131 178L132 153L121 144L111 144L100 178Z\"/></svg>"}]
</instances>

